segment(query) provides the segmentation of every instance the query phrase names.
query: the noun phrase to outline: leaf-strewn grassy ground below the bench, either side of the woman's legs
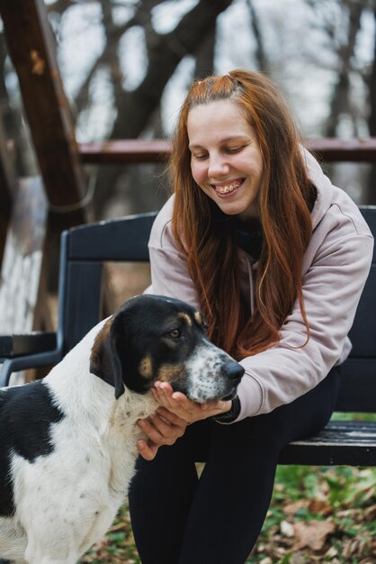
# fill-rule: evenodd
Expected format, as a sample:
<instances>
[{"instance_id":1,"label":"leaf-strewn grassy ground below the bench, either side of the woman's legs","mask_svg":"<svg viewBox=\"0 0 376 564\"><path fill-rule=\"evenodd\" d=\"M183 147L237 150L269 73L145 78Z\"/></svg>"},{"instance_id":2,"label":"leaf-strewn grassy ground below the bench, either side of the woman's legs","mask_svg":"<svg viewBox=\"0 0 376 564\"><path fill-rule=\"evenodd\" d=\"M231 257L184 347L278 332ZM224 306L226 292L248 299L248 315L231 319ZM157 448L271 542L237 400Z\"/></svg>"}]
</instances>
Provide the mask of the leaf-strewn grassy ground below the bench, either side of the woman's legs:
<instances>
[{"instance_id":1,"label":"leaf-strewn grassy ground below the bench, either side of the woman's legs","mask_svg":"<svg viewBox=\"0 0 376 564\"><path fill-rule=\"evenodd\" d=\"M126 504L80 562L140 564ZM376 563L376 470L279 467L263 531L246 560L256 562Z\"/></svg>"}]
</instances>

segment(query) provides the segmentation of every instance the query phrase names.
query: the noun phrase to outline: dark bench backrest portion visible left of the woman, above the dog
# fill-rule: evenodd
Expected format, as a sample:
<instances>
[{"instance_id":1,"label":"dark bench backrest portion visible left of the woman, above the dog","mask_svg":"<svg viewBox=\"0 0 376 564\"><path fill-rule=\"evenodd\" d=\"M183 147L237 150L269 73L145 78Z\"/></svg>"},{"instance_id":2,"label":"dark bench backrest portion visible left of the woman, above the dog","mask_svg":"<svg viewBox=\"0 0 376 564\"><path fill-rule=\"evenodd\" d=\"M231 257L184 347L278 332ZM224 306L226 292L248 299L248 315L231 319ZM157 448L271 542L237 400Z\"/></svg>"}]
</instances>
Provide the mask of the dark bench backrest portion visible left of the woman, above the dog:
<instances>
[{"instance_id":1,"label":"dark bench backrest portion visible left of the woman, above the dog","mask_svg":"<svg viewBox=\"0 0 376 564\"><path fill-rule=\"evenodd\" d=\"M58 336L66 353L103 315L103 263L148 261L157 212L80 225L61 238Z\"/></svg>"}]
</instances>

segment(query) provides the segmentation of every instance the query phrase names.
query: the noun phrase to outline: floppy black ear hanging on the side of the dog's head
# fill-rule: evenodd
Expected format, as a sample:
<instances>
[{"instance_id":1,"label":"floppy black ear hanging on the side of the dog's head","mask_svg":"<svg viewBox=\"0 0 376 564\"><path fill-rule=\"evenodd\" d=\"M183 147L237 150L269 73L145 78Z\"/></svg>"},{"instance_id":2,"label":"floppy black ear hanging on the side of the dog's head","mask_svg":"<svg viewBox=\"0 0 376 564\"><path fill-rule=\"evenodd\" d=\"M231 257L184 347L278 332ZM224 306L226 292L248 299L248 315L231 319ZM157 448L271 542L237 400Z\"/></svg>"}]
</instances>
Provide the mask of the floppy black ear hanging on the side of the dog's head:
<instances>
[{"instance_id":1,"label":"floppy black ear hanging on the side of the dog's head","mask_svg":"<svg viewBox=\"0 0 376 564\"><path fill-rule=\"evenodd\" d=\"M113 318L104 323L95 337L90 356L90 372L111 384L115 388L115 397L118 399L124 393L124 382L121 360L116 347L116 331L112 325Z\"/></svg>"}]
</instances>

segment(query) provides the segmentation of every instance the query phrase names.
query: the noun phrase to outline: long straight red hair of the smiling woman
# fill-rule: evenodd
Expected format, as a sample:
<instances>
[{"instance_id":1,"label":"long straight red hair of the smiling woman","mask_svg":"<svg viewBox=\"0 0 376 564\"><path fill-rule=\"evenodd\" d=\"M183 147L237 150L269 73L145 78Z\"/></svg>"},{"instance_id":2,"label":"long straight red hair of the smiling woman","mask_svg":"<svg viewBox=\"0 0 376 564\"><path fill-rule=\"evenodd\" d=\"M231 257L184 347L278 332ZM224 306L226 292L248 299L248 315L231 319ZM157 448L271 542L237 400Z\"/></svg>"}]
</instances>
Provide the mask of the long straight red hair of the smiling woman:
<instances>
[{"instance_id":1,"label":"long straight red hair of the smiling woman","mask_svg":"<svg viewBox=\"0 0 376 564\"><path fill-rule=\"evenodd\" d=\"M227 99L242 108L255 128L264 161L258 196L264 236L252 316L240 292L234 222L194 182L188 148L191 108ZM173 141L173 232L186 256L210 339L236 359L266 350L280 340L282 324L298 299L308 340L301 265L312 233L314 187L300 137L280 94L269 79L244 70L197 81L185 98Z\"/></svg>"}]
</instances>

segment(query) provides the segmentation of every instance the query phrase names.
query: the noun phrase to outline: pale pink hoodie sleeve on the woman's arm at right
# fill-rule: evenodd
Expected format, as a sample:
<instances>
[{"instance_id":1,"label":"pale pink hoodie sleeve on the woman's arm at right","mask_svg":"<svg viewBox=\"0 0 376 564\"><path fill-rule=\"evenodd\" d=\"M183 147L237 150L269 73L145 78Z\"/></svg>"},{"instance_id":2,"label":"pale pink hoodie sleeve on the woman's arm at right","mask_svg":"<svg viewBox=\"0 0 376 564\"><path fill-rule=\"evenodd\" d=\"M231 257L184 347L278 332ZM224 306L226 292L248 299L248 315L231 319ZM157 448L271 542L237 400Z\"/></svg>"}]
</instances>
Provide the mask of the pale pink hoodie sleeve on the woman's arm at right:
<instances>
[{"instance_id":1,"label":"pale pink hoodie sleeve on the woman's arm at right","mask_svg":"<svg viewBox=\"0 0 376 564\"><path fill-rule=\"evenodd\" d=\"M296 303L282 326L281 341L241 361L246 374L237 389L237 421L288 404L327 376L354 322L372 249L371 233L354 232L340 239L328 234L303 276L309 341L305 344L306 327Z\"/></svg>"}]
</instances>

